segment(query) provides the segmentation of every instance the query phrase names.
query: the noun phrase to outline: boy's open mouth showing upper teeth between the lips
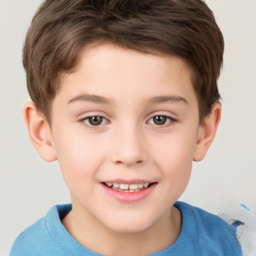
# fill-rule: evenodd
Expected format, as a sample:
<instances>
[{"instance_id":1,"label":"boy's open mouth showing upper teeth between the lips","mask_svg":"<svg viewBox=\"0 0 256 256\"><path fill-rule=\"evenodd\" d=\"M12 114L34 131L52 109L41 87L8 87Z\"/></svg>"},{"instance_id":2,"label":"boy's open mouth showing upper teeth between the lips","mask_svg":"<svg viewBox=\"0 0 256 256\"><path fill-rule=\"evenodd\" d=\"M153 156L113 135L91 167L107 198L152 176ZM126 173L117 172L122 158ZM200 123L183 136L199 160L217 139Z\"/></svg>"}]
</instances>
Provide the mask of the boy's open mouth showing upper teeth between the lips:
<instances>
[{"instance_id":1,"label":"boy's open mouth showing upper teeth between the lips","mask_svg":"<svg viewBox=\"0 0 256 256\"><path fill-rule=\"evenodd\" d=\"M113 190L120 192L139 192L144 190L147 187L150 187L153 183L135 183L135 184L122 184L122 183L112 183L112 182L103 182L103 184Z\"/></svg>"}]
</instances>

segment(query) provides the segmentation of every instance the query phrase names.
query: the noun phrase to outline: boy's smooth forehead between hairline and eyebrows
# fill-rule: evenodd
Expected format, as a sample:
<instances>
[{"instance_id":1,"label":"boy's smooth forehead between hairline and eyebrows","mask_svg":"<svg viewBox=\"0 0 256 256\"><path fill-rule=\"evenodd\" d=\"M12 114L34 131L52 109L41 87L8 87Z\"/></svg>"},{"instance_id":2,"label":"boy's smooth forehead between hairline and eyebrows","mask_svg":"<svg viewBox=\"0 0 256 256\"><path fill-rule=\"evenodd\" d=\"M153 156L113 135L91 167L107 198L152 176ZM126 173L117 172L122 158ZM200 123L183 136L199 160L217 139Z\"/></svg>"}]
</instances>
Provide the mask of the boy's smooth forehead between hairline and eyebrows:
<instances>
[{"instance_id":1,"label":"boy's smooth forehead between hairline and eyebrows","mask_svg":"<svg viewBox=\"0 0 256 256\"><path fill-rule=\"evenodd\" d=\"M75 70L61 79L60 92L66 101L78 94L97 94L131 100L166 94L194 96L190 68L177 56L142 53L112 43L86 45ZM64 93L63 93L64 92ZM189 99L190 100L190 99Z\"/></svg>"}]
</instances>

